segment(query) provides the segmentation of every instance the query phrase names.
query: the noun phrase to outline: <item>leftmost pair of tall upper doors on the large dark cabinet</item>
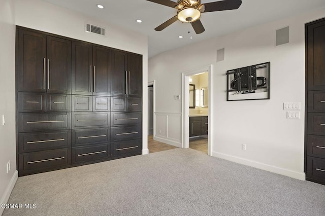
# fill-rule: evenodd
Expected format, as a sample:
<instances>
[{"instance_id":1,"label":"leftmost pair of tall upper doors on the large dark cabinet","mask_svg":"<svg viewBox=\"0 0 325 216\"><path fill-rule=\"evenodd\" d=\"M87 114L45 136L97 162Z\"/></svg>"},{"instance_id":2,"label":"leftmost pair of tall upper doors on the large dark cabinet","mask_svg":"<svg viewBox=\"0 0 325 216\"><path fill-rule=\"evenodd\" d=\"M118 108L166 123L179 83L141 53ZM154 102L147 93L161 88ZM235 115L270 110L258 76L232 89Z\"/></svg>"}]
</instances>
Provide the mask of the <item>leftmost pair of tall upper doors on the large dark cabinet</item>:
<instances>
[{"instance_id":1,"label":"leftmost pair of tall upper doors on the large dark cabinet","mask_svg":"<svg viewBox=\"0 0 325 216\"><path fill-rule=\"evenodd\" d=\"M18 30L18 90L69 94L71 41Z\"/></svg>"}]
</instances>

